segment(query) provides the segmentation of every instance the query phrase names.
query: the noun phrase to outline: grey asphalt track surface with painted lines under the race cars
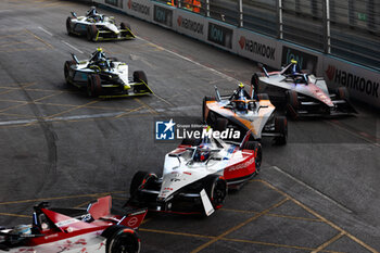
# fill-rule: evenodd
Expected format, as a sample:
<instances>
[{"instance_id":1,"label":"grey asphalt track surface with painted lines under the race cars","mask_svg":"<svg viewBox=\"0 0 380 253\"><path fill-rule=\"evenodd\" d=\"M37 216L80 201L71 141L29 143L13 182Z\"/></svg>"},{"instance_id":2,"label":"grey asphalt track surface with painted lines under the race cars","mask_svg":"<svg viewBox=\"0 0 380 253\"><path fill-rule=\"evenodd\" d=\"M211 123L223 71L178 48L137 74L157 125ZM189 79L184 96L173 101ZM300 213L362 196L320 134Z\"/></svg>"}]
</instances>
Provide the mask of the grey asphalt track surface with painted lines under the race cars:
<instances>
[{"instance_id":1,"label":"grey asphalt track surface with painted lines under the race cars","mask_svg":"<svg viewBox=\"0 0 380 253\"><path fill-rule=\"evenodd\" d=\"M112 194L116 211L135 172L160 175L176 143L154 140L157 118L201 117L201 100L249 84L251 61L140 20L134 41L69 37L65 20L87 5L59 0L0 3L0 224L31 219L40 201L87 206ZM103 11L111 14L109 11ZM154 96L89 99L66 87L64 61L97 47L143 69ZM289 143L264 140L262 173L207 218L150 215L142 252L380 251L379 115L289 123Z\"/></svg>"}]
</instances>

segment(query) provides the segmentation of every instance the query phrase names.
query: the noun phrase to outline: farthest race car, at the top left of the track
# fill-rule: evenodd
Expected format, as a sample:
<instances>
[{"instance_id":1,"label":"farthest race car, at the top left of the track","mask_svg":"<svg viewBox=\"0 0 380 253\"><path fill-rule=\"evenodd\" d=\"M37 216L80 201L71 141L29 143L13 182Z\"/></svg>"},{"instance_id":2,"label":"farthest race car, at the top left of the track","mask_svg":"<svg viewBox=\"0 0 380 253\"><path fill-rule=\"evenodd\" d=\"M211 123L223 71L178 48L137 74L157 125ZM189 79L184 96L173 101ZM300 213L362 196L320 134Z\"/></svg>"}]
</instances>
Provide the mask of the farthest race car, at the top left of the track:
<instances>
[{"instance_id":1,"label":"farthest race car, at the top left of the track","mask_svg":"<svg viewBox=\"0 0 380 253\"><path fill-rule=\"evenodd\" d=\"M72 16L66 20L66 29L68 35L86 36L90 41L135 38L129 24L122 22L117 27L113 16L99 14L94 7L87 12L86 16L77 16L72 12Z\"/></svg>"}]
</instances>

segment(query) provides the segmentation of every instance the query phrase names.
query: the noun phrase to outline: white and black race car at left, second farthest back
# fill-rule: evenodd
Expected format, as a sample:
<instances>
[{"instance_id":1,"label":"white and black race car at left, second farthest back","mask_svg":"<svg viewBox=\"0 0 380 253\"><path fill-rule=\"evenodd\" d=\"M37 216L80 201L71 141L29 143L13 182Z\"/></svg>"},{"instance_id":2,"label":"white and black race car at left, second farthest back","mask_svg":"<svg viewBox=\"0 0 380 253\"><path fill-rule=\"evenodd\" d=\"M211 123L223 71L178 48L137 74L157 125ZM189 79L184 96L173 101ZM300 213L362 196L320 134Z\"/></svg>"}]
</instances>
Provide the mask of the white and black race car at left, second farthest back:
<instances>
[{"instance_id":1,"label":"white and black race car at left, second farthest back","mask_svg":"<svg viewBox=\"0 0 380 253\"><path fill-rule=\"evenodd\" d=\"M153 93L142 71L128 77L128 65L115 58L106 58L101 48L89 60L79 61L75 54L64 65L68 85L85 88L89 97L116 98Z\"/></svg>"}]
</instances>

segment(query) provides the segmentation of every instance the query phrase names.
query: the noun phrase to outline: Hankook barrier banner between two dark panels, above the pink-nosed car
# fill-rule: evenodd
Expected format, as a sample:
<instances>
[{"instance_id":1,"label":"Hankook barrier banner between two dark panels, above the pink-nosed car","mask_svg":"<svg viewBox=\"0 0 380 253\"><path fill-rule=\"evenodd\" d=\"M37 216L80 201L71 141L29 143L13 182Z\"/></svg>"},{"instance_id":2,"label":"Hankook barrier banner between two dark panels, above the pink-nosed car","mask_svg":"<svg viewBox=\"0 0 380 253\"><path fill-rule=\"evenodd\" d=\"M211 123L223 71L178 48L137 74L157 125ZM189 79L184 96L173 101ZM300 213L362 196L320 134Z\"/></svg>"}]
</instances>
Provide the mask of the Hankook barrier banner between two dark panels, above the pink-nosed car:
<instances>
[{"instance_id":1,"label":"Hankook barrier banner between two dark panels, above the pink-nosed car","mask_svg":"<svg viewBox=\"0 0 380 253\"><path fill-rule=\"evenodd\" d=\"M274 39L252 33L246 29L237 29L237 53L244 58L261 62L268 66L281 67L281 47Z\"/></svg>"}]
</instances>

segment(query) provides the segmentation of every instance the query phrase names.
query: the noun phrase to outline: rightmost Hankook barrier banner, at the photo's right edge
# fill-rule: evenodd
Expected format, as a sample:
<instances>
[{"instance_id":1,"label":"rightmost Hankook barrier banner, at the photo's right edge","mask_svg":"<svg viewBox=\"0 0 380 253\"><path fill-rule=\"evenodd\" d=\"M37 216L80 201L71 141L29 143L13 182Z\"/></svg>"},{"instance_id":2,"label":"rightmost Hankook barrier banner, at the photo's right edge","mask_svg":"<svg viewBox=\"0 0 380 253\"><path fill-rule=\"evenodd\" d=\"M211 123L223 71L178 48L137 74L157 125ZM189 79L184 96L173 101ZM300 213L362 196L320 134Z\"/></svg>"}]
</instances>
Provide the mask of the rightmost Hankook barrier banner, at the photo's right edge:
<instances>
[{"instance_id":1,"label":"rightmost Hankook barrier banner, at the photo's right edge","mask_svg":"<svg viewBox=\"0 0 380 253\"><path fill-rule=\"evenodd\" d=\"M330 87L344 86L352 98L380 109L380 73L325 56L324 77Z\"/></svg>"}]
</instances>

